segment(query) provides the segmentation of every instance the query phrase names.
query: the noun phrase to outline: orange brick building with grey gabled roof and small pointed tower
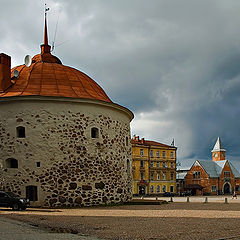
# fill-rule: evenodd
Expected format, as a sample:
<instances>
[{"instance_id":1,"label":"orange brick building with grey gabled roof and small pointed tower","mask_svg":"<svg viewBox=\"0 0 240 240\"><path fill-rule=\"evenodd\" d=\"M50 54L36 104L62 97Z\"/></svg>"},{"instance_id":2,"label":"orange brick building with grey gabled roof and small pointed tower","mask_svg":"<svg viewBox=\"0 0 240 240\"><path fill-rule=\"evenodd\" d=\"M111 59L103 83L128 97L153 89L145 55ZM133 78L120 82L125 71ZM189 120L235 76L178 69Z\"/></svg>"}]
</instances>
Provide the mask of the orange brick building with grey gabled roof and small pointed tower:
<instances>
[{"instance_id":1,"label":"orange brick building with grey gabled roof and small pointed tower","mask_svg":"<svg viewBox=\"0 0 240 240\"><path fill-rule=\"evenodd\" d=\"M185 176L185 189L192 195L240 193L240 173L225 159L220 138L212 150L212 161L197 160Z\"/></svg>"}]
</instances>

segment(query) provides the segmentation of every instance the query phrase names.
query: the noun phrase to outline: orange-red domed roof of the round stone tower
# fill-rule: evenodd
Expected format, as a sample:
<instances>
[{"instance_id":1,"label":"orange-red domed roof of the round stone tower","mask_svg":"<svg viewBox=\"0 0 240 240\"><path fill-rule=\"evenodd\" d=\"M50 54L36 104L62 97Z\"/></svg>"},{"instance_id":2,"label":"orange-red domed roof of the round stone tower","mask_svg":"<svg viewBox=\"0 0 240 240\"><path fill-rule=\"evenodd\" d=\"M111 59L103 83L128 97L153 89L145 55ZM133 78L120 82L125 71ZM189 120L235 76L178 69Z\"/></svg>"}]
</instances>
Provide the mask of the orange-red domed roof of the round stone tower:
<instances>
[{"instance_id":1,"label":"orange-red domed roof of the round stone tower","mask_svg":"<svg viewBox=\"0 0 240 240\"><path fill-rule=\"evenodd\" d=\"M40 95L112 102L93 79L77 69L62 65L51 53L34 56L30 67L21 65L13 68L12 77L14 70L19 71L19 76L0 97Z\"/></svg>"}]
</instances>

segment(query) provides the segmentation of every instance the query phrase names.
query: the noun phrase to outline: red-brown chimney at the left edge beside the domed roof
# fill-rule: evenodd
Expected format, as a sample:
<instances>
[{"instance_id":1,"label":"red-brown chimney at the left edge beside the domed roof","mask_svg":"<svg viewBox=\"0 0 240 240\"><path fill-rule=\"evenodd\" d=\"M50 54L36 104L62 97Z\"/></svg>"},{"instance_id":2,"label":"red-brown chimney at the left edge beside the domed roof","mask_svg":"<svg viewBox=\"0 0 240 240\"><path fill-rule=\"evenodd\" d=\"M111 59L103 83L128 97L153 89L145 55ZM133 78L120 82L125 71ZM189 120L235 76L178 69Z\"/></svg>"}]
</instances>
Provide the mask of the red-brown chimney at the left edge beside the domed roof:
<instances>
[{"instance_id":1,"label":"red-brown chimney at the left edge beside the domed roof","mask_svg":"<svg viewBox=\"0 0 240 240\"><path fill-rule=\"evenodd\" d=\"M11 57L0 53L0 92L4 92L11 84Z\"/></svg>"}]
</instances>

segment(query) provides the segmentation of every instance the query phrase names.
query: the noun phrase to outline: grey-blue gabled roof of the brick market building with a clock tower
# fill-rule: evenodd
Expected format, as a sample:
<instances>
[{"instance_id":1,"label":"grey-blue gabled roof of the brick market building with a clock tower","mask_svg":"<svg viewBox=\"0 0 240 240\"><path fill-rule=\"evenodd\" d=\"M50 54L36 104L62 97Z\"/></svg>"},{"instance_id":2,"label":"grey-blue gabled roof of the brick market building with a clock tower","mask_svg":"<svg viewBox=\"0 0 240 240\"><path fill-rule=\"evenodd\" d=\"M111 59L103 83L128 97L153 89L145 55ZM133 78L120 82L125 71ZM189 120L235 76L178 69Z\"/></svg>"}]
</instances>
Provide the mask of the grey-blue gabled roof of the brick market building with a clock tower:
<instances>
[{"instance_id":1,"label":"grey-blue gabled roof of the brick market building with a clock tower","mask_svg":"<svg viewBox=\"0 0 240 240\"><path fill-rule=\"evenodd\" d=\"M228 160L215 161L215 162L214 161L208 161L208 160L196 160L194 162L193 166L196 163L199 163L210 178L217 178L222 173L222 169L224 168L226 162L229 163L229 166L232 170L233 175L236 178L240 178L240 173L233 166L233 164L231 162L229 162Z\"/></svg>"}]
</instances>

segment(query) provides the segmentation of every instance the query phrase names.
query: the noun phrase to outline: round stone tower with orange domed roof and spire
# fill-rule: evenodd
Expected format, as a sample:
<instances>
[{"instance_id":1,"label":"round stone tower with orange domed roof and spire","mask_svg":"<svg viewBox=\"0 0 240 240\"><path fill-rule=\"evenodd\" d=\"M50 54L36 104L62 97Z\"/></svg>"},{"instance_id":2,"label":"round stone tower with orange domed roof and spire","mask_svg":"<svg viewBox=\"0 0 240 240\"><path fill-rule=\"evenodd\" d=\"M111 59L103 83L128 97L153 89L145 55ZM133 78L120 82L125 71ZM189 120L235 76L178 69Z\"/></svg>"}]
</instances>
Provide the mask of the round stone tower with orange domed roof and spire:
<instances>
[{"instance_id":1,"label":"round stone tower with orange domed roof and spire","mask_svg":"<svg viewBox=\"0 0 240 240\"><path fill-rule=\"evenodd\" d=\"M91 206L132 197L130 110L48 45L11 69L0 54L0 189L32 206Z\"/></svg>"}]
</instances>

